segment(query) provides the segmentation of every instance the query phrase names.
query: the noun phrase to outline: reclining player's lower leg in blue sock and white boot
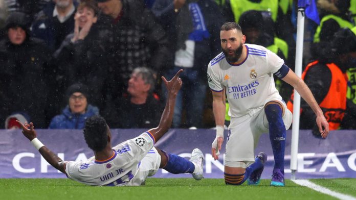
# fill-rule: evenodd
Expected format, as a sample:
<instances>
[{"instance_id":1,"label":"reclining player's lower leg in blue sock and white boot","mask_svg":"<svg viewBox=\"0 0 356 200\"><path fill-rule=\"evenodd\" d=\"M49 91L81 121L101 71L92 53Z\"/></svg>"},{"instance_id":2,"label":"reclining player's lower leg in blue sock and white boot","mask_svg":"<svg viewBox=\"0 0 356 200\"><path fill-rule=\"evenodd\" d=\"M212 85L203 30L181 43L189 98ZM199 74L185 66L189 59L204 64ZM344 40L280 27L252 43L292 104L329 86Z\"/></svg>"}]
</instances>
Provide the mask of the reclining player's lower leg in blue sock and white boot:
<instances>
[{"instance_id":1,"label":"reclining player's lower leg in blue sock and white boot","mask_svg":"<svg viewBox=\"0 0 356 200\"><path fill-rule=\"evenodd\" d=\"M160 168L167 170L170 173L191 173L195 180L203 179L203 161L204 156L202 151L195 148L192 152L190 160L183 157L169 154L156 148L161 156Z\"/></svg>"}]
</instances>

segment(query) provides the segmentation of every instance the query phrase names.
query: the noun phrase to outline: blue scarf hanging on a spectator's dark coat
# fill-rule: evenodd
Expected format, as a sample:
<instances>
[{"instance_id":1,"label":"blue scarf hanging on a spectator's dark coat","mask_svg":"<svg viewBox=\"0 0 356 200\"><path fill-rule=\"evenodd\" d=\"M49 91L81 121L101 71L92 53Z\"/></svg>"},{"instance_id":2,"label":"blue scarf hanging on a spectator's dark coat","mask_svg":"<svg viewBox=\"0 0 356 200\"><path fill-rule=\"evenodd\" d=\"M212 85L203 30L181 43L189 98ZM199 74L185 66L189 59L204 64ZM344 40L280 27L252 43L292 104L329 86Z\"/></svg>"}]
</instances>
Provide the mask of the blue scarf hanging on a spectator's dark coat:
<instances>
[{"instance_id":1,"label":"blue scarf hanging on a spectator's dark coat","mask_svg":"<svg viewBox=\"0 0 356 200\"><path fill-rule=\"evenodd\" d=\"M189 4L189 11L193 21L193 32L189 34L189 39L193 41L202 41L209 38L210 34L205 26L204 16L197 3Z\"/></svg>"}]
</instances>

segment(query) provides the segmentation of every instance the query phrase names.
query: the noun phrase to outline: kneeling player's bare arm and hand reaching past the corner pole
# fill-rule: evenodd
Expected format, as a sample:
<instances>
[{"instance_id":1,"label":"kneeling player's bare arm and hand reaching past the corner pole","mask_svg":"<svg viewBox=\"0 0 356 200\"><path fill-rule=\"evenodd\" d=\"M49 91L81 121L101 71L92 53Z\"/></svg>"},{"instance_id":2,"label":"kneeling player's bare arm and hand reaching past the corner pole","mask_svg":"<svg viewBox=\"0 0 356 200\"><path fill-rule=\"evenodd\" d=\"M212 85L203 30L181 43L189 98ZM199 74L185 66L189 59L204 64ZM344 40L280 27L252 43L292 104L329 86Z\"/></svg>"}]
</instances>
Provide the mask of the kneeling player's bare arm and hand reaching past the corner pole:
<instances>
[{"instance_id":1,"label":"kneeling player's bare arm and hand reaching past the corner pole","mask_svg":"<svg viewBox=\"0 0 356 200\"><path fill-rule=\"evenodd\" d=\"M289 70L287 75L282 78L282 80L292 85L294 89L298 91L300 96L303 97L303 99L310 106L310 108L314 111L314 113L317 115L317 124L320 135L323 138L326 138L326 136L329 134L329 123L326 121L323 111L320 109L317 101L313 96L313 93L311 93L308 86L292 70Z\"/></svg>"}]
</instances>

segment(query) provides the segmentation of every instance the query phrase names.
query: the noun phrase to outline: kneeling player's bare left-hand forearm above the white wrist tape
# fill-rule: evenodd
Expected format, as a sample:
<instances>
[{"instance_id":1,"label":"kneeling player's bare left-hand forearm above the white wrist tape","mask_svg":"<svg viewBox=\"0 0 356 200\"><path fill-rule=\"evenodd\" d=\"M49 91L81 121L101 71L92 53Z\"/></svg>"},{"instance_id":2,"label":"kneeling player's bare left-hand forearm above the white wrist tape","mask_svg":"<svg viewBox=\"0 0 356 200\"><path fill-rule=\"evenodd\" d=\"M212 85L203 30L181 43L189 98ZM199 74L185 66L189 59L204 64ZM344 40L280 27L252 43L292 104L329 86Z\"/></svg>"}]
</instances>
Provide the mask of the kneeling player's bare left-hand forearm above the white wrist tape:
<instances>
[{"instance_id":1,"label":"kneeling player's bare left-hand forearm above the white wrist tape","mask_svg":"<svg viewBox=\"0 0 356 200\"><path fill-rule=\"evenodd\" d=\"M213 93L213 113L216 126L224 127L225 122L225 112L226 112L226 105L225 105L225 90L221 92L214 92Z\"/></svg>"}]
</instances>

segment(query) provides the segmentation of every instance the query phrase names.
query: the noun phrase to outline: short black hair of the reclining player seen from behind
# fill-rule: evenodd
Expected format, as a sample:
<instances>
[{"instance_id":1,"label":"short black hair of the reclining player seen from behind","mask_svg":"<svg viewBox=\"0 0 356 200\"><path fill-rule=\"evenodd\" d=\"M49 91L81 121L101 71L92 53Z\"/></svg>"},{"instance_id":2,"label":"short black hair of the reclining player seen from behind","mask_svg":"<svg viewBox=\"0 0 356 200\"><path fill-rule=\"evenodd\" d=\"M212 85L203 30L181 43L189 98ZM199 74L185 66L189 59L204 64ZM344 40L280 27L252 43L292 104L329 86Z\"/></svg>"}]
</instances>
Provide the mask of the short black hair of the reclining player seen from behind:
<instances>
[{"instance_id":1,"label":"short black hair of the reclining player seen from behind","mask_svg":"<svg viewBox=\"0 0 356 200\"><path fill-rule=\"evenodd\" d=\"M94 115L85 121L84 139L89 148L95 152L102 151L107 145L107 125L103 117Z\"/></svg>"}]
</instances>

